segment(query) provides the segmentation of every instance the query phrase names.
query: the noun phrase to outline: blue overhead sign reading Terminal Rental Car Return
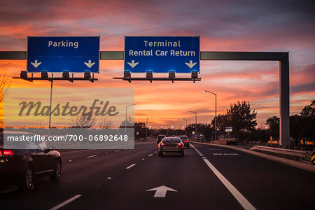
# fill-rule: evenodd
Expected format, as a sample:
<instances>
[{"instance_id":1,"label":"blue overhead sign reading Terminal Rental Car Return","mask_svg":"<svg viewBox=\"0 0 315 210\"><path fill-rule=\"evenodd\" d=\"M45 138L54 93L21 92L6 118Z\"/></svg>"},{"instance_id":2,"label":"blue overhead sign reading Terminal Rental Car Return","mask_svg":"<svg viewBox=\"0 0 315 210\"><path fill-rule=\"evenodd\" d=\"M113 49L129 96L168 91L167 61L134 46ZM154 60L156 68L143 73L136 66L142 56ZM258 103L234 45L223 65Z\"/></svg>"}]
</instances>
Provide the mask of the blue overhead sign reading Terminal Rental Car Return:
<instances>
[{"instance_id":1,"label":"blue overhead sign reading Terminal Rental Car Return","mask_svg":"<svg viewBox=\"0 0 315 210\"><path fill-rule=\"evenodd\" d=\"M125 71L200 72L200 36L125 36Z\"/></svg>"}]
</instances>

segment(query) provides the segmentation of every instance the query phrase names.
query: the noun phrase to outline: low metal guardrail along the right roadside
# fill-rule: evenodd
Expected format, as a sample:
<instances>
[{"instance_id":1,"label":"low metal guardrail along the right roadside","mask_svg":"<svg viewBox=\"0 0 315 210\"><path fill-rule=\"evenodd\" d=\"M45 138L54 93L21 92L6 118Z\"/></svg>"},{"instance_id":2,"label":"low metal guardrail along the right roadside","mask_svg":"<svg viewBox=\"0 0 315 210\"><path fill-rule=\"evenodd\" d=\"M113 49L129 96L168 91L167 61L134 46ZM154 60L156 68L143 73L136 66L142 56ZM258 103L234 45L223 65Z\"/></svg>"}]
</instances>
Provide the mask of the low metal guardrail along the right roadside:
<instances>
[{"instance_id":1,"label":"low metal guardrail along the right roadside","mask_svg":"<svg viewBox=\"0 0 315 210\"><path fill-rule=\"evenodd\" d=\"M275 153L278 155L286 155L286 156L293 156L296 158L299 158L300 161L302 159L307 158L307 152L306 151L295 151L295 150L288 150L288 149L283 149L283 148L272 148L269 146L253 146L250 148L251 151L264 151L264 152L269 152L269 153Z\"/></svg>"}]
</instances>

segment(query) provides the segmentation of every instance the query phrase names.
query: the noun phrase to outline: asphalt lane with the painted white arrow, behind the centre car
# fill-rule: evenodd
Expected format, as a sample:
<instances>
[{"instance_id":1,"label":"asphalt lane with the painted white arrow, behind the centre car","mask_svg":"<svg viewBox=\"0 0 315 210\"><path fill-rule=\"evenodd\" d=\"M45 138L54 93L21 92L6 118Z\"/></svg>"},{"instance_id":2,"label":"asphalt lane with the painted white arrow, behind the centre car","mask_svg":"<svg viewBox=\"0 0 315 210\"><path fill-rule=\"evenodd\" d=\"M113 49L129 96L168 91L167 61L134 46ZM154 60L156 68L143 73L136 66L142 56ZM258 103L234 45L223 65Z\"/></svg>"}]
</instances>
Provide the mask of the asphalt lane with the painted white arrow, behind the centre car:
<instances>
[{"instance_id":1,"label":"asphalt lane with the painted white arrow, behind the centre car","mask_svg":"<svg viewBox=\"0 0 315 210\"><path fill-rule=\"evenodd\" d=\"M153 197L151 188L167 186L178 192ZM209 171L202 158L187 149L185 157L152 156L119 180L66 206L66 209L241 209L230 192Z\"/></svg>"}]
</instances>

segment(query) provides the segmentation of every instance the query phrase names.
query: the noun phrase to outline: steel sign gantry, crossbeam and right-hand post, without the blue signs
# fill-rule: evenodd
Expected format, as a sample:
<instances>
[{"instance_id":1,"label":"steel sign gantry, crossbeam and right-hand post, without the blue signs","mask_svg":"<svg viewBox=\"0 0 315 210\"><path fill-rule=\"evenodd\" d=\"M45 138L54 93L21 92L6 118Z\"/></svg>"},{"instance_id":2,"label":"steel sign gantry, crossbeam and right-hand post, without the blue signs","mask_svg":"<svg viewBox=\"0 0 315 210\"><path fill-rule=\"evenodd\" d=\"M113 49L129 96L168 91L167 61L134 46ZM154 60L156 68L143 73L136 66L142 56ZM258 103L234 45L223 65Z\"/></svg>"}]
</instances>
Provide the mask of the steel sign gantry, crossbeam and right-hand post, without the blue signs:
<instances>
[{"instance_id":1,"label":"steel sign gantry, crossbeam and right-hand post, without the blue signs","mask_svg":"<svg viewBox=\"0 0 315 210\"><path fill-rule=\"evenodd\" d=\"M0 51L0 59L26 59L25 51ZM124 59L123 51L101 51L100 59ZM289 80L289 52L200 52L201 60L251 60L251 61L277 61L279 62L279 85L280 85L280 145L290 145L290 80ZM193 76L192 71L192 76ZM26 73L26 71L25 71ZM130 71L129 71L130 73ZM197 72L196 72L197 73ZM22 73L21 73L22 74ZM22 78L22 76L21 76ZM92 78L91 78L92 79ZM123 80L155 80L155 78L120 78ZM164 78L164 80L176 80L177 78ZM187 80L194 79L187 78ZM200 78L195 78L195 80ZM97 79L94 79L97 80ZM183 80L183 78L181 78ZM92 81L92 80L91 80Z\"/></svg>"}]
</instances>

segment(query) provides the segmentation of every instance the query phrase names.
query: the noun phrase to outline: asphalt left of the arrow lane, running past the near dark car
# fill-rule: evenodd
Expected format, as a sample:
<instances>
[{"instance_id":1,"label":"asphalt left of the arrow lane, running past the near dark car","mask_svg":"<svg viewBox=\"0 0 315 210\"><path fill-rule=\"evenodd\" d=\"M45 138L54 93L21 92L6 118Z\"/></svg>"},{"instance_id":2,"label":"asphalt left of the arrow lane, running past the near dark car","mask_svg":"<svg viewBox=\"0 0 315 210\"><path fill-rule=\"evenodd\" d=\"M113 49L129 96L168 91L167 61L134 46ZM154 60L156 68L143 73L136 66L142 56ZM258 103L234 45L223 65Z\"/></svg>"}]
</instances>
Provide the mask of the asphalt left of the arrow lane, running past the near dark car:
<instances>
[{"instance_id":1,"label":"asphalt left of the arrow lane, running past the near dark car","mask_svg":"<svg viewBox=\"0 0 315 210\"><path fill-rule=\"evenodd\" d=\"M78 192L94 192L111 181L109 177L117 179L125 174L125 167L130 162L139 164L146 161L146 157L155 151L155 142L141 143L134 150L67 151L62 154L62 178L59 182L52 183L48 178L39 179L34 190L29 193L19 192L16 188L12 188L11 192L10 189L3 190L6 193L0 191L1 200L6 200L1 207L50 209ZM93 155L97 156L87 158Z\"/></svg>"}]
</instances>

